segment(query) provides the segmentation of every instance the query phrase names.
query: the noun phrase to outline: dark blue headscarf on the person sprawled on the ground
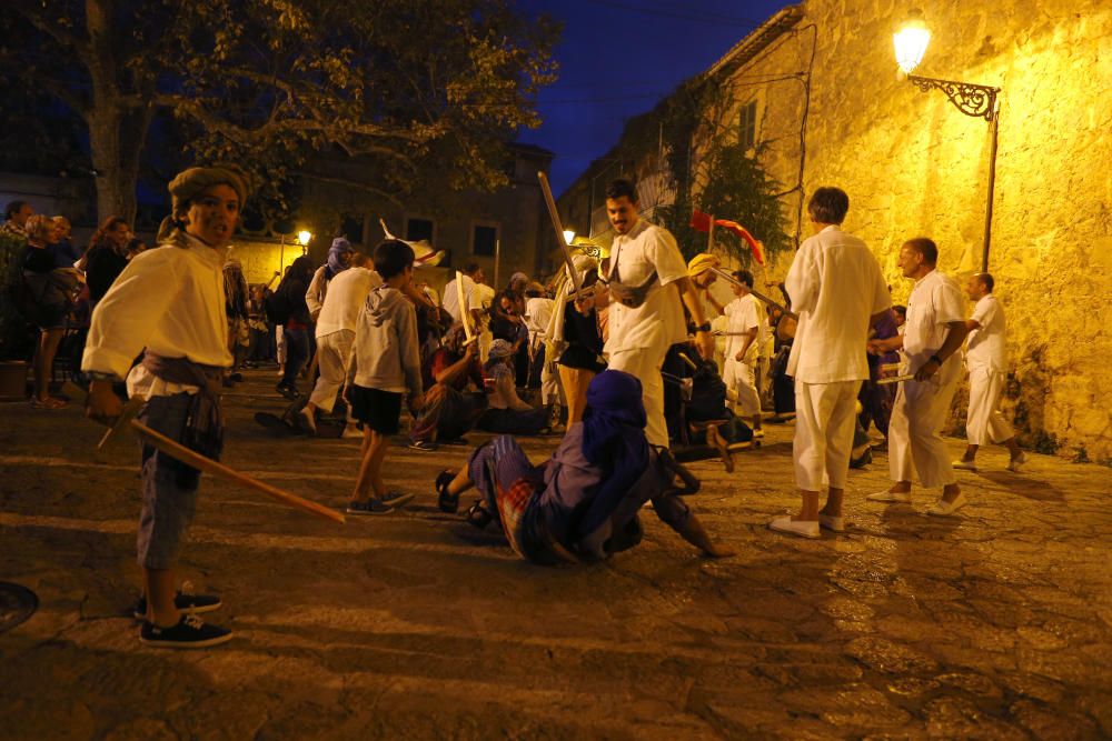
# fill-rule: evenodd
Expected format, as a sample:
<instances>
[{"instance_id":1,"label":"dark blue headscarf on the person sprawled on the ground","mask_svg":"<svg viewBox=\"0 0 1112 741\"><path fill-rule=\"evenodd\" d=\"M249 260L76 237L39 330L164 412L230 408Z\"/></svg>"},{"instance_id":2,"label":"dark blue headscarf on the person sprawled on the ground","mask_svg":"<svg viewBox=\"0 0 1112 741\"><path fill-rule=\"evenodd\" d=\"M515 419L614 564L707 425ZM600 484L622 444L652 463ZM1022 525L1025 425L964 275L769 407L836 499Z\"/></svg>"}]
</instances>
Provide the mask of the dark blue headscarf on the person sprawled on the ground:
<instances>
[{"instance_id":1,"label":"dark blue headscarf on the person sprawled on the ground","mask_svg":"<svg viewBox=\"0 0 1112 741\"><path fill-rule=\"evenodd\" d=\"M607 370L592 379L583 414L583 455L603 469L603 482L578 525L579 534L594 532L610 517L648 469L646 422L636 377Z\"/></svg>"}]
</instances>

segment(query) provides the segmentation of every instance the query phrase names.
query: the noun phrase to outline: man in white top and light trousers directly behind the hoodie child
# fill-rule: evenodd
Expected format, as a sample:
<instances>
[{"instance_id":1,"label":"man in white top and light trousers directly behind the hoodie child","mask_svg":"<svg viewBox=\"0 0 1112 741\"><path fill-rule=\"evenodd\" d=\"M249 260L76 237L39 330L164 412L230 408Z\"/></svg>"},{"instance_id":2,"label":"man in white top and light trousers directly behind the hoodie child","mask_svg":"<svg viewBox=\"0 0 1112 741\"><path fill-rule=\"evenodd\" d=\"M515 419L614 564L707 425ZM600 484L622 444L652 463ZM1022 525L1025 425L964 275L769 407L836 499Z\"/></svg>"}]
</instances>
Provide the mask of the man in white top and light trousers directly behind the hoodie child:
<instances>
[{"instance_id":1,"label":"man in white top and light trousers directly behind the hoodie child","mask_svg":"<svg viewBox=\"0 0 1112 741\"><path fill-rule=\"evenodd\" d=\"M359 310L371 289L383 283L378 273L369 269L370 258L361 252L351 252L349 260L350 267L329 281L317 317L320 375L309 394L308 403L299 412L306 427L314 433L317 431L317 410L320 409L326 414L332 411L336 395L344 388ZM355 418L349 415L348 425L355 425Z\"/></svg>"}]
</instances>

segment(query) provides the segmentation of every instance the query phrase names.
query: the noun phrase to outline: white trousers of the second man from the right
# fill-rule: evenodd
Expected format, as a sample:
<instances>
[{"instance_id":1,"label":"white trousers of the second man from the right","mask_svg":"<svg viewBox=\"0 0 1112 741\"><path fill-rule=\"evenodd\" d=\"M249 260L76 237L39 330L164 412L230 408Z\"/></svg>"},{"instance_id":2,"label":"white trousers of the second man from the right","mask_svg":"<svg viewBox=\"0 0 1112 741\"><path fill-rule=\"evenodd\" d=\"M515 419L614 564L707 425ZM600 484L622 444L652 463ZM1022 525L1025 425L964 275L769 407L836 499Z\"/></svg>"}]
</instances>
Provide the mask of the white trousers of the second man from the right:
<instances>
[{"instance_id":1,"label":"white trousers of the second man from the right","mask_svg":"<svg viewBox=\"0 0 1112 741\"><path fill-rule=\"evenodd\" d=\"M932 380L900 384L888 422L888 472L893 481L912 481L916 472L920 483L929 488L957 481L940 432L961 370L960 359L950 358Z\"/></svg>"}]
</instances>

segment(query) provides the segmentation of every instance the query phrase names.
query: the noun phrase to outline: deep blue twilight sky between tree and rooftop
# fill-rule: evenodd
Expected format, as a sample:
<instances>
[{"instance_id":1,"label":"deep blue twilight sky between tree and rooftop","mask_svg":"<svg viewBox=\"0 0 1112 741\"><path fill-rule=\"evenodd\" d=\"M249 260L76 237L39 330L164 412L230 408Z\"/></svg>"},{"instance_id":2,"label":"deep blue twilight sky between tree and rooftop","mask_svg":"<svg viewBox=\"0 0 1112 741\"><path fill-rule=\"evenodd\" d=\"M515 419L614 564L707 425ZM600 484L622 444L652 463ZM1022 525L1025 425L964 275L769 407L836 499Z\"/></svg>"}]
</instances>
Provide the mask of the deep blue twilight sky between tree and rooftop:
<instances>
[{"instance_id":1,"label":"deep blue twilight sky between tree and rooftop","mask_svg":"<svg viewBox=\"0 0 1112 741\"><path fill-rule=\"evenodd\" d=\"M518 0L564 21L559 80L539 98L544 124L520 140L556 153L559 196L617 143L631 117L706 70L784 0Z\"/></svg>"}]
</instances>

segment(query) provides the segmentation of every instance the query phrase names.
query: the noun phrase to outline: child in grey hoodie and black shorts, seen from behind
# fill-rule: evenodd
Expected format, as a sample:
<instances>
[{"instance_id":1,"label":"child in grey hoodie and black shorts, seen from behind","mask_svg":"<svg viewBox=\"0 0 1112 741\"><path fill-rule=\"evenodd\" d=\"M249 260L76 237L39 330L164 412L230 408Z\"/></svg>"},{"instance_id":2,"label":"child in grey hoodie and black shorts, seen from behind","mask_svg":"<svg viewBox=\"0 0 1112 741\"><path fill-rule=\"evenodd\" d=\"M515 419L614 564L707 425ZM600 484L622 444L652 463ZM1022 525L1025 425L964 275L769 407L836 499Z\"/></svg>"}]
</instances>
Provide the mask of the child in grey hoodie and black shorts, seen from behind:
<instances>
[{"instance_id":1,"label":"child in grey hoodie and black shorts, seen from behind","mask_svg":"<svg viewBox=\"0 0 1112 741\"><path fill-rule=\"evenodd\" d=\"M344 394L353 415L363 422L364 435L348 514L390 512L414 497L387 491L383 480L390 435L398 432L403 395L414 415L425 403L417 312L406 299L414 259L413 248L397 239L375 248L375 271L383 284L371 290L359 312Z\"/></svg>"}]
</instances>

